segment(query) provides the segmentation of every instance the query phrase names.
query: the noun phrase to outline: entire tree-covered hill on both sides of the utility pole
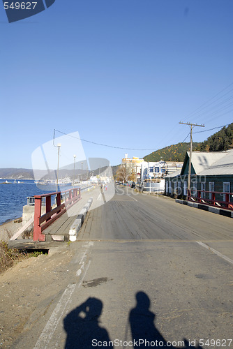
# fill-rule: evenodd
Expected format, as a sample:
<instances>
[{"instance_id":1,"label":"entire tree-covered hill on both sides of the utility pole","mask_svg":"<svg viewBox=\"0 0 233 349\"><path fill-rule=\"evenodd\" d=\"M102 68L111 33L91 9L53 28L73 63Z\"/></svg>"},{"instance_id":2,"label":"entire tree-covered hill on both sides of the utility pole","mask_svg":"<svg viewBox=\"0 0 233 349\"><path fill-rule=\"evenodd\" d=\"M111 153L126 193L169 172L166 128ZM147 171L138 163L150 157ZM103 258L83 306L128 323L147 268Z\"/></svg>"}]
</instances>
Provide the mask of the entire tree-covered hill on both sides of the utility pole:
<instances>
[{"instance_id":1,"label":"entire tree-covered hill on both sides of the utility pole","mask_svg":"<svg viewBox=\"0 0 233 349\"><path fill-rule=\"evenodd\" d=\"M161 158L163 161L183 161L189 147L190 143L173 144L144 156L144 161L160 161ZM233 149L233 123L223 127L204 142L193 142L194 151L224 151L228 149Z\"/></svg>"}]
</instances>

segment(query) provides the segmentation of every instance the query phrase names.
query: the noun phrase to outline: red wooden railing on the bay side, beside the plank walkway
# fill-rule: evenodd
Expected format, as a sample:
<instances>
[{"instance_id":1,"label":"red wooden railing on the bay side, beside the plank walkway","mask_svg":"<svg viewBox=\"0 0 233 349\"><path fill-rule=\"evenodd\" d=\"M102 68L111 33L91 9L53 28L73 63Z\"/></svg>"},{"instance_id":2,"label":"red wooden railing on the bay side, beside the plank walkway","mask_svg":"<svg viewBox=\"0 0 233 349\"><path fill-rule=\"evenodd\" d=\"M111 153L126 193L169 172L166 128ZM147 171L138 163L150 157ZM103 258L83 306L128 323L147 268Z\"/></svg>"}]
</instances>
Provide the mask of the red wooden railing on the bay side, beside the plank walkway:
<instances>
[{"instance_id":1,"label":"red wooden railing on the bay side, beside the plank walkway","mask_svg":"<svg viewBox=\"0 0 233 349\"><path fill-rule=\"evenodd\" d=\"M51 197L57 195L57 207L52 209ZM62 198L64 198L61 204L61 191L58 193L48 193L43 195L35 195L35 212L34 212L34 241L45 241L45 235L42 234L43 230L50 224L56 221L62 214L64 214L70 207L81 199L80 188L69 189L62 192ZM45 214L41 216L41 203L45 198Z\"/></svg>"}]
</instances>

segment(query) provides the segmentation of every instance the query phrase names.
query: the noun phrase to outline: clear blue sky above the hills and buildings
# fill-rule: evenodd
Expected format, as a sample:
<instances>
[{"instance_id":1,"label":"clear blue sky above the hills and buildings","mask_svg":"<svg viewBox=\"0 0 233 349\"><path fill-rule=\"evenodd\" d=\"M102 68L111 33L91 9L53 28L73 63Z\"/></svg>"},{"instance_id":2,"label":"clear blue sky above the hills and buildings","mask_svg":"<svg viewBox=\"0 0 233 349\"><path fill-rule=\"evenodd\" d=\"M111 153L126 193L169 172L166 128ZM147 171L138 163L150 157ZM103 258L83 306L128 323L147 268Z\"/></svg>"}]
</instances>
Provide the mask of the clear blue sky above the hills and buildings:
<instances>
[{"instance_id":1,"label":"clear blue sky above the hills and buildings","mask_svg":"<svg viewBox=\"0 0 233 349\"><path fill-rule=\"evenodd\" d=\"M156 150L186 138L179 121L233 121L232 0L56 0L11 24L0 10L0 168L31 168L54 128ZM153 151L82 145L111 165Z\"/></svg>"}]
</instances>

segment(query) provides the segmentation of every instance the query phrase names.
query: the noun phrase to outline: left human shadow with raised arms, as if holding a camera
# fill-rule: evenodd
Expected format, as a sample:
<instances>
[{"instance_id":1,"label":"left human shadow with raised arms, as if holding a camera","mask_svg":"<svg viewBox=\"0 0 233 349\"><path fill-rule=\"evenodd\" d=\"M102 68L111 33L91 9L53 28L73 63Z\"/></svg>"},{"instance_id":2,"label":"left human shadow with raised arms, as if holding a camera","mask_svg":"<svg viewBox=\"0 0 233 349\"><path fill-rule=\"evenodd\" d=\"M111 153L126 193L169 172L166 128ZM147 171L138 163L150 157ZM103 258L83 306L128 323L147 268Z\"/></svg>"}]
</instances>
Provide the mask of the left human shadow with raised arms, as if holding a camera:
<instances>
[{"instance_id":1,"label":"left human shadow with raised arms, as if holding a camera","mask_svg":"<svg viewBox=\"0 0 233 349\"><path fill-rule=\"evenodd\" d=\"M67 333L66 349L93 348L93 339L101 342L110 341L107 330L99 325L102 309L103 302L100 299L88 298L86 302L68 313L63 320Z\"/></svg>"}]
</instances>

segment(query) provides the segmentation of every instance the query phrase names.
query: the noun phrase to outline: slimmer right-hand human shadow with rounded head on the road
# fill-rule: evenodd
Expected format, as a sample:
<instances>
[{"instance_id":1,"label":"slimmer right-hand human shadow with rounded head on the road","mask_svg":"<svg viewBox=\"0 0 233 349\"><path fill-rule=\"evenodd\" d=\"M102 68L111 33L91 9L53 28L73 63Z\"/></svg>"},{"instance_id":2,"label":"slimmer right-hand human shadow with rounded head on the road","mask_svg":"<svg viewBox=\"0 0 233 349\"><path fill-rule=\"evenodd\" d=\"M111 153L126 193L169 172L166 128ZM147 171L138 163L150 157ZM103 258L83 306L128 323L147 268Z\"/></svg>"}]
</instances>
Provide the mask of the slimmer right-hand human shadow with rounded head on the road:
<instances>
[{"instance_id":1,"label":"slimmer right-hand human shadow with rounded head on the road","mask_svg":"<svg viewBox=\"0 0 233 349\"><path fill-rule=\"evenodd\" d=\"M150 299L145 292L136 293L136 306L131 309L129 314L130 329L133 341L133 347L138 348L172 348L178 349L179 347L172 346L171 342L167 342L163 335L156 328L154 322L156 320L156 314L149 310ZM202 349L202 347L190 346L188 340L183 339L183 349L196 348Z\"/></svg>"}]
</instances>

